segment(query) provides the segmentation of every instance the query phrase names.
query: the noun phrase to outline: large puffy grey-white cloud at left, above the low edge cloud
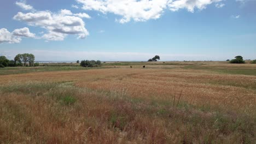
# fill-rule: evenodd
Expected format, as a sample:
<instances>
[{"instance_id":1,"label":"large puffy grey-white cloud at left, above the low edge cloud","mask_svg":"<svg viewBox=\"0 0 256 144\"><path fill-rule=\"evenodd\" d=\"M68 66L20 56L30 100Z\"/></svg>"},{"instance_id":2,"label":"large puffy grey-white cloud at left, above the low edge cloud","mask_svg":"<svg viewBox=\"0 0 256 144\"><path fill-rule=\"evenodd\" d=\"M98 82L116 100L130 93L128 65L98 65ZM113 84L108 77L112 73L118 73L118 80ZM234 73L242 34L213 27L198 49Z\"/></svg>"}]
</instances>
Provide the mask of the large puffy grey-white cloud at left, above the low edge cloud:
<instances>
[{"instance_id":1,"label":"large puffy grey-white cloud at left, above the low edge cloud","mask_svg":"<svg viewBox=\"0 0 256 144\"><path fill-rule=\"evenodd\" d=\"M85 13L73 14L70 10L62 9L58 13L51 13L51 11L19 12L13 19L46 29L48 33L42 38L56 41L65 39L68 34L78 35L79 39L86 38L89 32L81 17L89 18L90 16Z\"/></svg>"}]
</instances>

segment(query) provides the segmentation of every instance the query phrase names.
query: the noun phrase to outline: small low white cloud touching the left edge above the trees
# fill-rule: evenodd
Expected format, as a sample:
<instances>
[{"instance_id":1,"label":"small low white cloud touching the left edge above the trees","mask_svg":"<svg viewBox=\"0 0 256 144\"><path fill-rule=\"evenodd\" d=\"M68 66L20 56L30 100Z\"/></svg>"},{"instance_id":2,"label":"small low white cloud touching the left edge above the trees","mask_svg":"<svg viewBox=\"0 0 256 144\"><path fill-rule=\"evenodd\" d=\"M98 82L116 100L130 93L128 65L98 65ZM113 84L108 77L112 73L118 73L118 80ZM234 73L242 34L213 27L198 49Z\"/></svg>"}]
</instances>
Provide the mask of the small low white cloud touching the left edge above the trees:
<instances>
[{"instance_id":1,"label":"small low white cloud touching the left edge above the trees","mask_svg":"<svg viewBox=\"0 0 256 144\"><path fill-rule=\"evenodd\" d=\"M12 33L10 33L7 29L0 29L0 44L1 43L20 43L21 37L34 38L35 34L30 32L30 29L27 27L15 29Z\"/></svg>"}]
</instances>

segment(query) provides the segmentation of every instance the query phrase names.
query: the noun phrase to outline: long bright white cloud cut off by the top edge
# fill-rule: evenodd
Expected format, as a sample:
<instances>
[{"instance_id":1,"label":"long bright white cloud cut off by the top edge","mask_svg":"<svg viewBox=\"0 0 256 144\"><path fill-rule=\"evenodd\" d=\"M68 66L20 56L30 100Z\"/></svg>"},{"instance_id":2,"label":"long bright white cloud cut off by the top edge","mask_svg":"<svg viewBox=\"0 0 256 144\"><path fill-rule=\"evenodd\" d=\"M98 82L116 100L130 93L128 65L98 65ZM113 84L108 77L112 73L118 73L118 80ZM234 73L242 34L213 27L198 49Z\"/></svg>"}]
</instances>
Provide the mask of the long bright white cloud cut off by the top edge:
<instances>
[{"instance_id":1,"label":"long bright white cloud cut off by the top edge","mask_svg":"<svg viewBox=\"0 0 256 144\"><path fill-rule=\"evenodd\" d=\"M113 13L122 16L117 20L120 23L134 21L147 21L159 19L165 9L177 11L188 9L205 9L208 4L217 3L222 0L76 0L83 4L84 10L96 10L103 14Z\"/></svg>"}]
</instances>

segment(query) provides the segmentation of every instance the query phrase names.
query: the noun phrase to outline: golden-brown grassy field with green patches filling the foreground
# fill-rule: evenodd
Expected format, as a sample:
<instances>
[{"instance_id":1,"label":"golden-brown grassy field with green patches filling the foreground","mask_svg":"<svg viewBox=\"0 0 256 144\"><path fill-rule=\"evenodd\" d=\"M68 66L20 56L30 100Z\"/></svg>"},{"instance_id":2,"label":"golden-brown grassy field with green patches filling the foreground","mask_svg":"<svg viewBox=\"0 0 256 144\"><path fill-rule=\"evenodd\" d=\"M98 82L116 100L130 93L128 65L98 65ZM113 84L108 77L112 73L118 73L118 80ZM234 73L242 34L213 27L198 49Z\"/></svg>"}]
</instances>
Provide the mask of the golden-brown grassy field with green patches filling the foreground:
<instances>
[{"instance_id":1,"label":"golden-brown grassy field with green patches filling the foreground","mask_svg":"<svg viewBox=\"0 0 256 144\"><path fill-rule=\"evenodd\" d=\"M255 98L248 63L4 68L0 143L255 143Z\"/></svg>"}]
</instances>

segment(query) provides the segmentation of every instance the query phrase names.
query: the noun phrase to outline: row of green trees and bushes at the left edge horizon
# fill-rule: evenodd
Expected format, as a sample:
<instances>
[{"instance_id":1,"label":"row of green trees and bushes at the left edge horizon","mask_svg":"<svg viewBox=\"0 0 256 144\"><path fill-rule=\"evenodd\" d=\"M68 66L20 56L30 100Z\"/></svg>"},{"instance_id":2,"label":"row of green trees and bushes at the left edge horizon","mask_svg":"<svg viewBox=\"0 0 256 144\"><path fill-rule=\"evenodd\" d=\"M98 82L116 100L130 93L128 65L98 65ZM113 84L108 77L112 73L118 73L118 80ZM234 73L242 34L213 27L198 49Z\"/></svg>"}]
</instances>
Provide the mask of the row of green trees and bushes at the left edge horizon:
<instances>
[{"instance_id":1,"label":"row of green trees and bushes at the left edge horizon","mask_svg":"<svg viewBox=\"0 0 256 144\"><path fill-rule=\"evenodd\" d=\"M39 63L34 63L34 55L31 53L23 53L15 56L13 60L9 60L5 56L0 56L0 68L4 67L38 67Z\"/></svg>"}]
</instances>

